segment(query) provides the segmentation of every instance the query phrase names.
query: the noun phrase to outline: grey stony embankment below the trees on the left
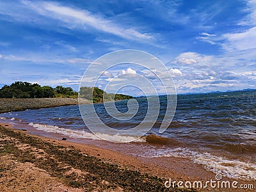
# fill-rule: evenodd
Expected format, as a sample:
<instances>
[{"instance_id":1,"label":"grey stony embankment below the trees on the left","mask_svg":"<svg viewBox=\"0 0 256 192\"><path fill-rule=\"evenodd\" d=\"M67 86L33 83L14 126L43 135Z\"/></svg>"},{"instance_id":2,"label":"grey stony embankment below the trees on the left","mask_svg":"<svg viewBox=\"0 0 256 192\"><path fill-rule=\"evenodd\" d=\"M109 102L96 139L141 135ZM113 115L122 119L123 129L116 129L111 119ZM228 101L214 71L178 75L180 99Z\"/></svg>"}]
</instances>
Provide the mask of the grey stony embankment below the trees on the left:
<instances>
[{"instance_id":1,"label":"grey stony embankment below the trees on the left","mask_svg":"<svg viewBox=\"0 0 256 192\"><path fill-rule=\"evenodd\" d=\"M89 100L84 99L83 103L89 103ZM73 98L0 99L0 113L76 104L78 104L78 100Z\"/></svg>"}]
</instances>

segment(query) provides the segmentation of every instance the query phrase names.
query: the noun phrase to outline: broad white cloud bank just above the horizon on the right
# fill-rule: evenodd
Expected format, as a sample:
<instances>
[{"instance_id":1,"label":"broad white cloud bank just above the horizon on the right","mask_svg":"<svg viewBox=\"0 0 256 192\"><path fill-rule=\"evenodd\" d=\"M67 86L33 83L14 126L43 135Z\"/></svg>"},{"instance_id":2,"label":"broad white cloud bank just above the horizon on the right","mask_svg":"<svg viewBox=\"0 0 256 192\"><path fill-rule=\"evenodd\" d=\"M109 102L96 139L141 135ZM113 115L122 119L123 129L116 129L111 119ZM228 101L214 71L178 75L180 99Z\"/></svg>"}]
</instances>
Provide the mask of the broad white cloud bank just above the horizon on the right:
<instances>
[{"instance_id":1,"label":"broad white cloud bank just above the horizon on the right","mask_svg":"<svg viewBox=\"0 0 256 192\"><path fill-rule=\"evenodd\" d=\"M244 51L227 51L222 56L183 52L174 61L168 63L168 66L172 68L170 69L172 75L175 72L177 76L179 75L179 72L175 70L176 67L182 72L182 78L173 76L177 92L211 92L212 90L255 88L256 77L253 76L255 70L252 68L255 66L255 60L241 57L243 55L241 52ZM184 58L186 60L182 60ZM191 60L196 60L197 63L188 65Z\"/></svg>"}]
</instances>

